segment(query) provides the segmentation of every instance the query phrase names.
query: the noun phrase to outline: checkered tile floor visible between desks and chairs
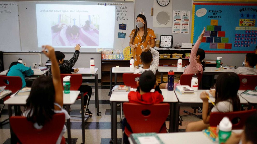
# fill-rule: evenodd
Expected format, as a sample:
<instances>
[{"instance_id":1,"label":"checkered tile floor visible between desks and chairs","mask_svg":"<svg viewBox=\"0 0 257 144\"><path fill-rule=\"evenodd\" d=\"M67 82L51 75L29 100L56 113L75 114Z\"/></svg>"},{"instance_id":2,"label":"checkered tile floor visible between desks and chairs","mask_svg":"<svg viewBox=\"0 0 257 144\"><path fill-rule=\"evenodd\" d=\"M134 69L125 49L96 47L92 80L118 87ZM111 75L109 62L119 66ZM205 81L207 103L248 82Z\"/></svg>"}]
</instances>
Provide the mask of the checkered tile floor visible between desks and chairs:
<instances>
[{"instance_id":1,"label":"checkered tile floor visible between desks and chairs","mask_svg":"<svg viewBox=\"0 0 257 144\"><path fill-rule=\"evenodd\" d=\"M84 83L83 83L84 84ZM87 83L87 85L91 85L93 91L95 91L95 87L93 83ZM111 138L111 115L110 115L110 96L108 95L110 89L106 86L99 86L99 111L102 113L101 116L96 115L96 108L95 108L95 95L91 97L89 103L89 109L94 114L91 118L88 119L88 122L85 123L85 143L109 143ZM1 105L2 107L3 105ZM80 100L77 100L74 105L71 105L72 111L70 112L73 116L80 116ZM191 107L181 107L180 108L180 115L185 115L183 110L187 110L193 112ZM120 113L117 113L117 138L118 143L121 143L122 137L122 130L120 125ZM2 112L2 116L0 117L0 121L8 118L7 107ZM198 118L194 116L184 116L182 117L183 122L182 126L179 126L179 131L185 131L186 125L192 121L199 121ZM169 122L166 122L166 127L169 126ZM71 118L71 135L72 135L72 143L79 144L82 143L82 127L81 127L81 118ZM64 135L67 138L67 132ZM10 143L10 130L9 124L0 126L0 143Z\"/></svg>"}]
</instances>

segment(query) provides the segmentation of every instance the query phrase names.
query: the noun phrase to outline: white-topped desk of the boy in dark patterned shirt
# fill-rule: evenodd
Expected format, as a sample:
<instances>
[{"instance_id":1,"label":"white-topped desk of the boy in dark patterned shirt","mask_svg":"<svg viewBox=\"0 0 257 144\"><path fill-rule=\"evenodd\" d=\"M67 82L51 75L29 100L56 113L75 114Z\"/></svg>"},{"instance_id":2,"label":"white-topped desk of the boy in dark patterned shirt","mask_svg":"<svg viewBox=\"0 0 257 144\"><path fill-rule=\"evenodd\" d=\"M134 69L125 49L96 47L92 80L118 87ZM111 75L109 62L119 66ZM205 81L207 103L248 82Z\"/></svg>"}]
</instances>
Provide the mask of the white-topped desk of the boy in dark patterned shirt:
<instances>
[{"instance_id":1,"label":"white-topped desk of the boy in dark patterned shirt","mask_svg":"<svg viewBox=\"0 0 257 144\"><path fill-rule=\"evenodd\" d=\"M75 69L75 68L74 68ZM98 71L98 68L90 69L90 68L78 68L77 73L72 74L81 74L82 76L88 76L88 77L95 77L95 107L97 111L97 116L101 116L102 113L99 112L99 96L98 96L98 74L96 74Z\"/></svg>"}]
</instances>

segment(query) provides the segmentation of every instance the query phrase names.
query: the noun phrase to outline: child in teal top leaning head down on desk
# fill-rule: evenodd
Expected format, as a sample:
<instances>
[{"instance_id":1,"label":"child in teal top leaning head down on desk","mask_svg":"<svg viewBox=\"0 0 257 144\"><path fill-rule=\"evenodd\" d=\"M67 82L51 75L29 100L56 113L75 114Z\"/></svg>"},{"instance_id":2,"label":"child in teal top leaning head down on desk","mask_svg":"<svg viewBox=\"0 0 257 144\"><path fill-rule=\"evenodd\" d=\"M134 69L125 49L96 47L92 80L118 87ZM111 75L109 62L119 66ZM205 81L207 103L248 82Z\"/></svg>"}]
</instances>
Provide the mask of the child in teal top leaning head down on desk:
<instances>
[{"instance_id":1,"label":"child in teal top leaning head down on desk","mask_svg":"<svg viewBox=\"0 0 257 144\"><path fill-rule=\"evenodd\" d=\"M12 62L9 66L9 70L6 74L7 76L18 76L22 79L22 88L25 87L25 75L32 76L34 75L34 71L30 67L26 67L23 64L19 63L18 61ZM31 86L31 85L29 85Z\"/></svg>"}]
</instances>

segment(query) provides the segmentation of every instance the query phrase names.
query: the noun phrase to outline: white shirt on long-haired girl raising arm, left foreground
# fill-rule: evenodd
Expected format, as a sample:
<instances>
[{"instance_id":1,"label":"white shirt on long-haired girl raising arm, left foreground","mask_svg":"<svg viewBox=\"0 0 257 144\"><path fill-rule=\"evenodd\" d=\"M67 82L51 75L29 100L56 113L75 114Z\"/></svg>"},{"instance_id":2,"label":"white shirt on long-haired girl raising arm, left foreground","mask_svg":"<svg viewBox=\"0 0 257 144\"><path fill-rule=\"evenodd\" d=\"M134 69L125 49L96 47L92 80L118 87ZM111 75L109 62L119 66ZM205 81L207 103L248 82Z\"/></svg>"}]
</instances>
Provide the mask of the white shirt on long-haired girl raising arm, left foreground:
<instances>
[{"instance_id":1,"label":"white shirt on long-haired girl raising arm, left foreground","mask_svg":"<svg viewBox=\"0 0 257 144\"><path fill-rule=\"evenodd\" d=\"M58 103L54 103L54 105L58 106L61 110L54 110L54 113L64 113L65 114L65 119L70 119L70 115L68 114L68 112L66 110L64 110ZM23 116L27 117L28 113L30 112L30 110L26 110L24 111L24 113L22 114ZM32 113L31 113L32 114ZM34 123L34 127L35 129L42 129L43 126L42 125L38 125L38 123ZM63 134L66 132L66 126L64 125L62 128L62 131L56 141L56 144L60 144L62 141L62 136Z\"/></svg>"}]
</instances>

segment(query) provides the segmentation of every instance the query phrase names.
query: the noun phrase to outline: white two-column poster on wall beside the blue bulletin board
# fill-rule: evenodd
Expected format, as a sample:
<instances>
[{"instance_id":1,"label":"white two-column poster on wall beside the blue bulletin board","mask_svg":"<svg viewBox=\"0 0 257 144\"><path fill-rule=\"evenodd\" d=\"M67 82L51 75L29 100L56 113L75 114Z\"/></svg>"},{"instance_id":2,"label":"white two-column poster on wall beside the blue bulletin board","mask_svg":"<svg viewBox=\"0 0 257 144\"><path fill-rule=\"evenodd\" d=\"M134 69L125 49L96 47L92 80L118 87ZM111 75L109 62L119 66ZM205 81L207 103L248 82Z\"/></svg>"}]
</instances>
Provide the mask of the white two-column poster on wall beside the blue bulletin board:
<instances>
[{"instance_id":1,"label":"white two-column poster on wall beside the blue bulletin board","mask_svg":"<svg viewBox=\"0 0 257 144\"><path fill-rule=\"evenodd\" d=\"M188 34L190 11L173 11L172 33Z\"/></svg>"}]
</instances>

